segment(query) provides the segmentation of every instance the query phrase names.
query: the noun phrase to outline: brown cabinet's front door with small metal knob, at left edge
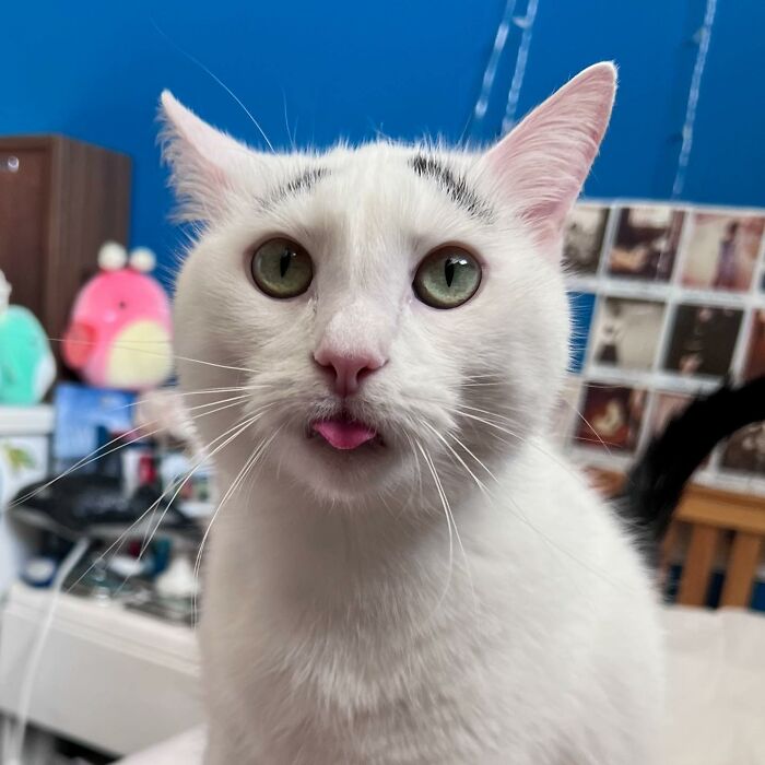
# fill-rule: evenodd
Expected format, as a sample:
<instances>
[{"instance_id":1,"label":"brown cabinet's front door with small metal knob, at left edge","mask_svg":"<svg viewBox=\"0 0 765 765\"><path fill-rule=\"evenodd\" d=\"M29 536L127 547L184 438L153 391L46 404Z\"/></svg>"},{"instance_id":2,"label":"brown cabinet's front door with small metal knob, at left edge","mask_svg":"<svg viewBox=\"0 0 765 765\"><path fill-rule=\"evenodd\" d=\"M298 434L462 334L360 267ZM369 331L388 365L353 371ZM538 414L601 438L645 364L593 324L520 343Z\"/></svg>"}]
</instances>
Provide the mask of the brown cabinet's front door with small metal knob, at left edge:
<instances>
[{"instance_id":1,"label":"brown cabinet's front door with small metal knob, at left edge","mask_svg":"<svg viewBox=\"0 0 765 765\"><path fill-rule=\"evenodd\" d=\"M11 302L37 316L45 299L48 157L44 148L0 149L0 270L13 287Z\"/></svg>"}]
</instances>

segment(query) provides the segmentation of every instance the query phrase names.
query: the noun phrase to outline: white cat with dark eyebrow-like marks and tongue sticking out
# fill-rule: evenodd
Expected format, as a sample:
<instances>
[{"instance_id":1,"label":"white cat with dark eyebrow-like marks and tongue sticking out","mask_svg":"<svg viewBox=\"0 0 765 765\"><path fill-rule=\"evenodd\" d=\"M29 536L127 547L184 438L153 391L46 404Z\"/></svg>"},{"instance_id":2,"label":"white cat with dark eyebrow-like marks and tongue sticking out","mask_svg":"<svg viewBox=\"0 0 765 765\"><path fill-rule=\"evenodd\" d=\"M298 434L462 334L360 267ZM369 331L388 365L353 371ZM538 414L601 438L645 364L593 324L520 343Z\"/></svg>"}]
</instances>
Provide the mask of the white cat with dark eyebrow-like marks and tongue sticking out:
<instances>
[{"instance_id":1,"label":"white cat with dark eyebrow-like marks and tongue sticking out","mask_svg":"<svg viewBox=\"0 0 765 765\"><path fill-rule=\"evenodd\" d=\"M205 566L209 765L654 762L650 574L545 440L562 224L614 89L593 66L469 153L266 154L163 95L200 224L175 318L207 363L183 386L242 397L199 419L231 487Z\"/></svg>"}]
</instances>

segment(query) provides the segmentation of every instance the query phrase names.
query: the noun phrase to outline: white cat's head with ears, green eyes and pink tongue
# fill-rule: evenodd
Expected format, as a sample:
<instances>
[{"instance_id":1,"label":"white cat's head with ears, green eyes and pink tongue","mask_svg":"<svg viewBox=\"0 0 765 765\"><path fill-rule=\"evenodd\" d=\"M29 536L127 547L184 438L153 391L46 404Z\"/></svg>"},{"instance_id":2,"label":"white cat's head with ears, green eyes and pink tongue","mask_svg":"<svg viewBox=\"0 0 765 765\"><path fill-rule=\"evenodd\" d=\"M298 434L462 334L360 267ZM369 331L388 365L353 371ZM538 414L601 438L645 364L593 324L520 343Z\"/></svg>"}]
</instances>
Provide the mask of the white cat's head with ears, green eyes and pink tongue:
<instances>
[{"instance_id":1,"label":"white cat's head with ears, green eyes and pink tongue","mask_svg":"<svg viewBox=\"0 0 765 765\"><path fill-rule=\"evenodd\" d=\"M211 450L244 464L262 447L282 480L363 504L434 470L485 480L536 435L567 363L562 227L614 89L596 64L486 151L292 154L165 93L165 156L199 224L175 307L177 352L198 361L179 373L221 389L198 411Z\"/></svg>"}]
</instances>

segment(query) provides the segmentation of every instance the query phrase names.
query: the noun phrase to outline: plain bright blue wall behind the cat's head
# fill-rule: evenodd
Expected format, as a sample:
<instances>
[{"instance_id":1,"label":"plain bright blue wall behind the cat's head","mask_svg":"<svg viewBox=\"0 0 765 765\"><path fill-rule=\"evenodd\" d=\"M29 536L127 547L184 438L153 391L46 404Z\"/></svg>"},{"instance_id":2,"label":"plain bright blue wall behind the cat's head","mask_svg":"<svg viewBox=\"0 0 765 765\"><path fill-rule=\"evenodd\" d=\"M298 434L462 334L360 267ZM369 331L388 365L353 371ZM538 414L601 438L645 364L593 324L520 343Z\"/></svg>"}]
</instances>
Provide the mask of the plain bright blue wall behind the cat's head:
<instances>
[{"instance_id":1,"label":"plain bright blue wall behind the cat's head","mask_svg":"<svg viewBox=\"0 0 765 765\"><path fill-rule=\"evenodd\" d=\"M518 0L522 12L527 0ZM719 2L684 198L765 207L765 3ZM621 68L591 197L669 198L704 0L539 0L522 113L600 59ZM5 3L0 133L61 132L134 160L132 242L173 262L177 231L158 166L155 104L169 87L256 145L248 118L188 56L210 67L275 145L497 134L520 33L496 96L471 123L505 0L282 0ZM289 130L286 122L289 121Z\"/></svg>"}]
</instances>

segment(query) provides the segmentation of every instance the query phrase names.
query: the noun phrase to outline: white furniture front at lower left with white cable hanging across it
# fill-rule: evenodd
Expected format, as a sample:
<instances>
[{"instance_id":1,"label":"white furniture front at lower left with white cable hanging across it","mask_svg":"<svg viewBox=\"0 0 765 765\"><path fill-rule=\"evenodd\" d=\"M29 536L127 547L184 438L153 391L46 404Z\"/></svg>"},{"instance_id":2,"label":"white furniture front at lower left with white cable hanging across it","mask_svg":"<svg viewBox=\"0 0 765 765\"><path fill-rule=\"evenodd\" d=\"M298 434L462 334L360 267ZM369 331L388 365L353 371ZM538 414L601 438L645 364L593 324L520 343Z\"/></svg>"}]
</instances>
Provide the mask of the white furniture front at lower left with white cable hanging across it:
<instances>
[{"instance_id":1,"label":"white furniture front at lower left with white cable hanging across it","mask_svg":"<svg viewBox=\"0 0 765 765\"><path fill-rule=\"evenodd\" d=\"M13 714L50 593L15 584L0 623L0 708ZM190 627L61 595L32 697L31 721L123 755L202 721Z\"/></svg>"}]
</instances>

